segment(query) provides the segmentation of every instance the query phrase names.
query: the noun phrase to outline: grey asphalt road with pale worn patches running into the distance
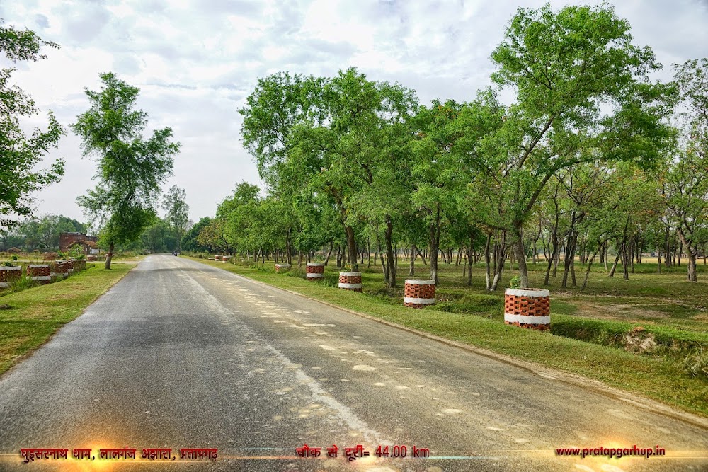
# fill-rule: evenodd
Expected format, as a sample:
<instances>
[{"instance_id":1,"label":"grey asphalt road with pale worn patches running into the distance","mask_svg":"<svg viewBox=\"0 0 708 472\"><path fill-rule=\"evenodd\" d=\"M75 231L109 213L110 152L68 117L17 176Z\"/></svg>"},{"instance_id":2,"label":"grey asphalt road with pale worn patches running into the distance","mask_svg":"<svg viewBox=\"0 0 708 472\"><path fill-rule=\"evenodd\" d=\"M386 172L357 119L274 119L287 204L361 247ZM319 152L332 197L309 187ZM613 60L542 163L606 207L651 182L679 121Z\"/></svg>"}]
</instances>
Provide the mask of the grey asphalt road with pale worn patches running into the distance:
<instances>
[{"instance_id":1,"label":"grey asphalt road with pale worn patches running into the distance","mask_svg":"<svg viewBox=\"0 0 708 472\"><path fill-rule=\"evenodd\" d=\"M303 444L322 456L299 459ZM370 456L348 461L358 444ZM666 456L555 454L635 444ZM99 460L110 447L138 459ZM23 448L91 448L96 460L23 464ZM143 448L178 459L143 461ZM182 461L181 448L218 459ZM2 471L706 471L708 430L154 255L1 377L0 454Z\"/></svg>"}]
</instances>

